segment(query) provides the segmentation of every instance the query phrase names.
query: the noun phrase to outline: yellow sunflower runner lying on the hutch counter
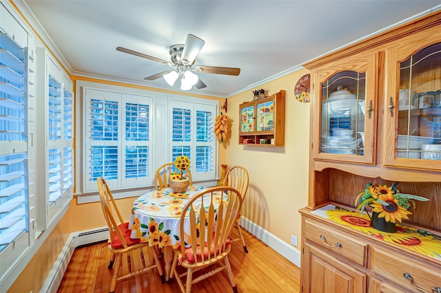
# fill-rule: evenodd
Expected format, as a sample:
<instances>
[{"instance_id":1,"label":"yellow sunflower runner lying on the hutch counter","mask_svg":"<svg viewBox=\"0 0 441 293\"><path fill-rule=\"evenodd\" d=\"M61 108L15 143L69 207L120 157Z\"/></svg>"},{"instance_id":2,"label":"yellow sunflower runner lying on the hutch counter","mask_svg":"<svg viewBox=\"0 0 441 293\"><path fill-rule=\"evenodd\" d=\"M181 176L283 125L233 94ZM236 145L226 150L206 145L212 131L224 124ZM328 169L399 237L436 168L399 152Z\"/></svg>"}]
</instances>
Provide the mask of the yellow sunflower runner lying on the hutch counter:
<instances>
[{"instance_id":1,"label":"yellow sunflower runner lying on the hutch counter","mask_svg":"<svg viewBox=\"0 0 441 293\"><path fill-rule=\"evenodd\" d=\"M338 224L349 226L354 230L365 232L367 235L393 243L401 248L441 260L441 237L424 230L418 230L402 224L397 224L396 233L387 233L372 228L371 221L365 214L352 212L332 204L313 210L311 214L330 219Z\"/></svg>"}]
</instances>

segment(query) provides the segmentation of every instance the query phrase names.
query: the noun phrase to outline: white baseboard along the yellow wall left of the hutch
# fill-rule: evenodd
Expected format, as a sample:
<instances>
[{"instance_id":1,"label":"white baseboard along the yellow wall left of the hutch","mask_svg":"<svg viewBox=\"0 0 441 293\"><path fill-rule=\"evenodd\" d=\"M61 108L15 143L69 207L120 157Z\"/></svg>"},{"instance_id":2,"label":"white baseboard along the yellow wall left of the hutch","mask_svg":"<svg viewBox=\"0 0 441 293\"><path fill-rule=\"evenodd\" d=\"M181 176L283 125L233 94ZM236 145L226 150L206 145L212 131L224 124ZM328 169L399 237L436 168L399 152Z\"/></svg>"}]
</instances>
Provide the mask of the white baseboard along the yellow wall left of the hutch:
<instances>
[{"instance_id":1,"label":"white baseboard along the yellow wall left of the hutch","mask_svg":"<svg viewBox=\"0 0 441 293\"><path fill-rule=\"evenodd\" d=\"M243 216L240 219L240 226L254 235L254 237L267 244L267 246L276 250L276 252L285 257L285 259L291 261L291 263L294 263L294 265L300 268L300 250L294 248L260 226L257 226Z\"/></svg>"}]
</instances>

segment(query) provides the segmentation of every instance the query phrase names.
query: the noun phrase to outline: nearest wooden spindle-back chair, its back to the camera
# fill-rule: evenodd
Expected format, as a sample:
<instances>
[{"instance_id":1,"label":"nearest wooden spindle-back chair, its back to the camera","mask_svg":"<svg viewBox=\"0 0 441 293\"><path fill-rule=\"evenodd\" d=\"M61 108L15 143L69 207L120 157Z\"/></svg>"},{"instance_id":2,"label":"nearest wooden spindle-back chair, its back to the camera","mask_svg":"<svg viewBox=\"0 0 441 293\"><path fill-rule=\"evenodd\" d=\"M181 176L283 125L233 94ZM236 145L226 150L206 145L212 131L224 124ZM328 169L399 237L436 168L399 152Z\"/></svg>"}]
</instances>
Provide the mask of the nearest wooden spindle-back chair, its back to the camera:
<instances>
[{"instance_id":1,"label":"nearest wooden spindle-back chair, its back to the camera","mask_svg":"<svg viewBox=\"0 0 441 293\"><path fill-rule=\"evenodd\" d=\"M172 276L176 276L182 292L191 292L194 283L222 270L227 270L233 291L238 292L228 254L232 248L229 234L241 206L240 193L227 186L207 188L185 205L179 223L180 247L174 249L172 264ZM191 247L186 248L187 243ZM187 271L179 274L178 265ZM193 278L194 272L204 268L204 274ZM182 278L185 276L184 285Z\"/></svg>"}]
</instances>

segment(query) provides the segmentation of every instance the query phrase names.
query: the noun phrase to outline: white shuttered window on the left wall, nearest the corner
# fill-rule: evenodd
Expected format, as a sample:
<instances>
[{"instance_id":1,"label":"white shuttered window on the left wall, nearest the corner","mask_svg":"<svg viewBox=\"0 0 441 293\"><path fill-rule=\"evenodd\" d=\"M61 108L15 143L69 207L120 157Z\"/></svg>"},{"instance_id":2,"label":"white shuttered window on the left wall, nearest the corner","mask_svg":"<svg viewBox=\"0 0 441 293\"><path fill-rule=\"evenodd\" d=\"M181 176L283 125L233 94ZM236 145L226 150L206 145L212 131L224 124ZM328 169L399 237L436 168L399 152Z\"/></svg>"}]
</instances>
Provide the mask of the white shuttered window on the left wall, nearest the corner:
<instances>
[{"instance_id":1,"label":"white shuttered window on the left wall, nearest the corner","mask_svg":"<svg viewBox=\"0 0 441 293\"><path fill-rule=\"evenodd\" d=\"M73 197L72 81L43 47L36 66L37 228L53 227Z\"/></svg>"}]
</instances>

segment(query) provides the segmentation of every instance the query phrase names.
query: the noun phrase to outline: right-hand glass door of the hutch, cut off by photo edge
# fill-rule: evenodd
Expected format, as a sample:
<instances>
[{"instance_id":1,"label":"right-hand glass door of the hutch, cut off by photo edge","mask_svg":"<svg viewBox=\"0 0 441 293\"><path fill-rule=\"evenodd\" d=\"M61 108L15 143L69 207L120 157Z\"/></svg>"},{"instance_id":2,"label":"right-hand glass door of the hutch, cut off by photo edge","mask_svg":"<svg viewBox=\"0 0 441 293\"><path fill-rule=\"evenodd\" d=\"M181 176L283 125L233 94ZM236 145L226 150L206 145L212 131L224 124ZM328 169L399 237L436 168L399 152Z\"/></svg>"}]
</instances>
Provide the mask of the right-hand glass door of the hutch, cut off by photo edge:
<instances>
[{"instance_id":1,"label":"right-hand glass door of the hutch, cut off by photo edge","mask_svg":"<svg viewBox=\"0 0 441 293\"><path fill-rule=\"evenodd\" d=\"M401 60L398 54L396 98L389 98L393 107L386 111L386 119L394 119L396 147L387 151L384 162L441 169L441 43Z\"/></svg>"}]
</instances>

